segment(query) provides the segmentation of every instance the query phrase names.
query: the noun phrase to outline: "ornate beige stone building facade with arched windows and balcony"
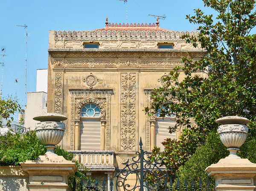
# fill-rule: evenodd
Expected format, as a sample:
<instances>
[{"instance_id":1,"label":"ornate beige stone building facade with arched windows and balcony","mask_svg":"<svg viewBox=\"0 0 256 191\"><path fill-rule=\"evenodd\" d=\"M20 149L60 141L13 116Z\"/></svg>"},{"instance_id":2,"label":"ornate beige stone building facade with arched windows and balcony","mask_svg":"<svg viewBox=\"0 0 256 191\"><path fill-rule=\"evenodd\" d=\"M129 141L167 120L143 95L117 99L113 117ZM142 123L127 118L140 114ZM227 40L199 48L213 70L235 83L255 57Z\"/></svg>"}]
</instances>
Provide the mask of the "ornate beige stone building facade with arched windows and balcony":
<instances>
[{"instance_id":1,"label":"ornate beige stone building facade with arched windows and balcony","mask_svg":"<svg viewBox=\"0 0 256 191\"><path fill-rule=\"evenodd\" d=\"M188 31L154 24L111 24L93 31L49 31L47 112L67 116L63 148L111 176L139 150L166 137L175 116L148 117L150 92L180 59L202 52L181 39ZM193 31L190 32L193 34ZM181 75L180 78L183 76Z\"/></svg>"}]
</instances>

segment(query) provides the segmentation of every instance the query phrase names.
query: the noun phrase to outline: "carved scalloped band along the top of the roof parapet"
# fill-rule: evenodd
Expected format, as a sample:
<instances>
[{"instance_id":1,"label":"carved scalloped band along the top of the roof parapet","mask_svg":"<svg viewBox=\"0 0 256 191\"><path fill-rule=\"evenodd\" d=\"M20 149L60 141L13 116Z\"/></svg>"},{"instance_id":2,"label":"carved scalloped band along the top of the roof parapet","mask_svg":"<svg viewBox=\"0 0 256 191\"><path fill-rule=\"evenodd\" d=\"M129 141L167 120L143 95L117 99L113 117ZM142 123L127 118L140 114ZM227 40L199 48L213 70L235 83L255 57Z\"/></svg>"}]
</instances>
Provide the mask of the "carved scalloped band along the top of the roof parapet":
<instances>
[{"instance_id":1,"label":"carved scalloped band along the top of the roof parapet","mask_svg":"<svg viewBox=\"0 0 256 191\"><path fill-rule=\"evenodd\" d=\"M93 30L93 31L55 31L55 40L172 40L183 41L181 36L197 36L198 31L170 31L166 29L147 30Z\"/></svg>"}]
</instances>

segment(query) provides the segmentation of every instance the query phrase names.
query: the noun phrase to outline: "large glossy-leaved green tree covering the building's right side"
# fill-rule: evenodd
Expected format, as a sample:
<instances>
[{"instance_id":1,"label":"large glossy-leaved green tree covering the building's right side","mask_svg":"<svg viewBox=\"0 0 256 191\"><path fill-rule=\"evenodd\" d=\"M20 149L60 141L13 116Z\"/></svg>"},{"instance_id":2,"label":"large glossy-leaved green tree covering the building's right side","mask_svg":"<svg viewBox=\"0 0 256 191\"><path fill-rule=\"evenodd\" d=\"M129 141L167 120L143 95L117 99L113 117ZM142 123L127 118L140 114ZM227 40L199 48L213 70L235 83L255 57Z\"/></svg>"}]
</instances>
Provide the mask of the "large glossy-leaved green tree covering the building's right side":
<instances>
[{"instance_id":1,"label":"large glossy-leaved green tree covering the building's right side","mask_svg":"<svg viewBox=\"0 0 256 191\"><path fill-rule=\"evenodd\" d=\"M183 58L184 66L163 79L166 85L154 89L151 108L145 108L149 114L160 110L160 117L175 113L177 125L169 127L170 133L183 128L179 140L163 142L162 153L153 149L155 157L173 173L210 132L216 132L219 117L247 117L251 121L249 137L256 134L256 34L250 33L256 25L255 0L203 1L218 16L213 19L212 14L195 9L195 16L186 19L199 24L199 34L186 34L183 39L201 48L205 56Z\"/></svg>"}]
</instances>

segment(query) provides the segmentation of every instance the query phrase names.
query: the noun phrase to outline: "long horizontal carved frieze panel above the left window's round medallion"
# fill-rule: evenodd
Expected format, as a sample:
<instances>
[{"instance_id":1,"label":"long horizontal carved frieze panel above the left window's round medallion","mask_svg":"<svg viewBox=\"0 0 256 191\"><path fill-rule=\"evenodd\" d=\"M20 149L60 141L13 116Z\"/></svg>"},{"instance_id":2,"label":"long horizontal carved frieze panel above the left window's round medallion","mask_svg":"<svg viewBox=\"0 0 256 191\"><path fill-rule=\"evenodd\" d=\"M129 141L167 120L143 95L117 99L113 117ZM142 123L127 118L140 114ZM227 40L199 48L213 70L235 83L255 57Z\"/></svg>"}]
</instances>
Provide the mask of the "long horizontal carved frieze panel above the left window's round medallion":
<instances>
[{"instance_id":1,"label":"long horizontal carved frieze panel above the left window's round medallion","mask_svg":"<svg viewBox=\"0 0 256 191\"><path fill-rule=\"evenodd\" d=\"M87 66L90 68L100 66L116 66L117 59L83 59L83 60L66 60L66 66Z\"/></svg>"}]
</instances>

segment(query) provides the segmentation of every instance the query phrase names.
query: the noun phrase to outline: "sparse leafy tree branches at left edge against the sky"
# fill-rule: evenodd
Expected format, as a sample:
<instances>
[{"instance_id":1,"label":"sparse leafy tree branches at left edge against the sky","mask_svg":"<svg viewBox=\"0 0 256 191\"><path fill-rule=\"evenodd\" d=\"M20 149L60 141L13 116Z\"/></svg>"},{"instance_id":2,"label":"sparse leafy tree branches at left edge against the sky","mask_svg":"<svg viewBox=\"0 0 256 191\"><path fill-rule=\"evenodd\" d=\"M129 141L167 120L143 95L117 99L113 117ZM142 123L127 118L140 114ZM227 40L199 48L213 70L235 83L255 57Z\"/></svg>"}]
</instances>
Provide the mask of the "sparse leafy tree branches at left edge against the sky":
<instances>
[{"instance_id":1,"label":"sparse leafy tree branches at left edge against the sky","mask_svg":"<svg viewBox=\"0 0 256 191\"><path fill-rule=\"evenodd\" d=\"M16 111L20 111L17 100L13 100L12 97L4 99L0 94L0 128L3 127L2 125L10 126ZM2 124L3 119L7 121L6 124Z\"/></svg>"}]
</instances>

